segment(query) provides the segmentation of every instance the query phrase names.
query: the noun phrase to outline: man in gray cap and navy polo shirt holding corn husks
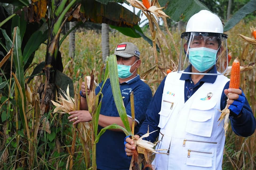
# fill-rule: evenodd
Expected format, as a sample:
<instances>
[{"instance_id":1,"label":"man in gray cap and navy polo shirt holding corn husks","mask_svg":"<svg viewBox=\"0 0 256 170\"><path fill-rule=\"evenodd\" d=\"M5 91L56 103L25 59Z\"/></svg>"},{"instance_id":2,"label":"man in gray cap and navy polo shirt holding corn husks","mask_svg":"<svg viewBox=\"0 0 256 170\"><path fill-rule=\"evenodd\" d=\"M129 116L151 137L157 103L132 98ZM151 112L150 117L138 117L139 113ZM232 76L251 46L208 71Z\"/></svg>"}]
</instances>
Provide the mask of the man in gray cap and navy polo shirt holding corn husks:
<instances>
[{"instance_id":1,"label":"man in gray cap and navy polo shirt holding corn husks","mask_svg":"<svg viewBox=\"0 0 256 170\"><path fill-rule=\"evenodd\" d=\"M134 111L135 111L135 133L138 131L142 122L145 120L145 112L149 106L152 98L152 92L150 87L144 83L137 74L137 68L141 64L140 52L138 48L130 42L123 42L118 44L115 48L114 55L117 57L118 77L120 84L120 91L123 98L123 104L126 108L127 117L132 124L131 119L131 104L130 94L134 93ZM95 89L95 93L98 94L102 83ZM79 122L91 121L91 115L87 111L87 102L85 83L81 86L81 105L80 111L70 112L69 119L74 121L73 124ZM115 106L110 80L107 79L102 88L102 103L101 111L99 115L99 131L113 123L116 123L124 127L121 118L119 117L117 108ZM76 118L76 119L75 119ZM96 145L96 162L97 169L100 170L128 170L130 167L131 157L125 155L123 149L123 139L125 133L120 129L106 130L100 137L99 142Z\"/></svg>"}]
</instances>

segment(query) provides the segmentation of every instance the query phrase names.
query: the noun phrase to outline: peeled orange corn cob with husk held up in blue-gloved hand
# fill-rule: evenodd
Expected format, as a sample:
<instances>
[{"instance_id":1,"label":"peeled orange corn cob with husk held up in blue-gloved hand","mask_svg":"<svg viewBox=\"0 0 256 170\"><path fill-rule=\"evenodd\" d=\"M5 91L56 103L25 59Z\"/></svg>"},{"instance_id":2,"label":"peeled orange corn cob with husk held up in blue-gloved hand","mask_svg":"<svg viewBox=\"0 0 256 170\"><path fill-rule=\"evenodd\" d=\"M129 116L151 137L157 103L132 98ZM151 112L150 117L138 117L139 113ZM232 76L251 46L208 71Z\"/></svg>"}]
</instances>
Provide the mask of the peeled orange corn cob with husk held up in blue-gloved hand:
<instances>
[{"instance_id":1,"label":"peeled orange corn cob with husk held up in blue-gloved hand","mask_svg":"<svg viewBox=\"0 0 256 170\"><path fill-rule=\"evenodd\" d=\"M238 61L238 58L236 58L233 61L232 68L231 68L229 88L239 88L239 86L240 86L240 63ZM229 94L232 94L232 93L229 93ZM229 94L227 96L229 96ZM227 127L229 125L229 113L230 111L226 105L226 107L221 111L221 116L219 117L220 122L224 119L225 136L227 132Z\"/></svg>"}]
</instances>

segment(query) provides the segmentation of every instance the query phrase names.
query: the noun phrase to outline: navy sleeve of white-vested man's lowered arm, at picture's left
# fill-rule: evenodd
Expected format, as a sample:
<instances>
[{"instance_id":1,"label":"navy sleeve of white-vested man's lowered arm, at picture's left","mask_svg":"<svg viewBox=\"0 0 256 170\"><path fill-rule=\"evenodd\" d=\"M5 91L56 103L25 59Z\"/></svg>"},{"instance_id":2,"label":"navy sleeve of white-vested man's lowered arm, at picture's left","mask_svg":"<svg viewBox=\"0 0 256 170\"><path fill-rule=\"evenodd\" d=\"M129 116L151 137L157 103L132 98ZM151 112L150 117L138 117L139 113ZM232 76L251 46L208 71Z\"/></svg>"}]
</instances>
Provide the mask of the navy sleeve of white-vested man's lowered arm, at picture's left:
<instances>
[{"instance_id":1,"label":"navy sleeve of white-vested man's lowered arm, at picture's left","mask_svg":"<svg viewBox=\"0 0 256 170\"><path fill-rule=\"evenodd\" d=\"M146 120L141 125L141 128L139 129L139 132L137 135L142 136L147 133L148 129L149 132L153 132L157 130L154 133L151 133L149 137L145 137L144 140L154 142L159 135L160 128L158 127L160 115L158 114L161 110L161 103L162 103L162 95L163 95L163 87L165 85L165 79L160 83L160 85L157 88L157 91L155 92L153 99L151 100L149 107L146 111Z\"/></svg>"}]
</instances>

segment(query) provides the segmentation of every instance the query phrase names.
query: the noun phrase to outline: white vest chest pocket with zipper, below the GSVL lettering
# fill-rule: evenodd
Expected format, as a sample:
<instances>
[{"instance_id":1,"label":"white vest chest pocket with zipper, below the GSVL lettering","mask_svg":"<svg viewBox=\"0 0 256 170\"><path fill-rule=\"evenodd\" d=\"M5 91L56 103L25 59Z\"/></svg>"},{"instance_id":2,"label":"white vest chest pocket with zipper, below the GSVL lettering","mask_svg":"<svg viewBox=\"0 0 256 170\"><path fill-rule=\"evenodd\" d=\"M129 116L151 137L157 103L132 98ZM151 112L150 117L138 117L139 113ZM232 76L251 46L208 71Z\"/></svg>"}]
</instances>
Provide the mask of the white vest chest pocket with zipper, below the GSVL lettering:
<instances>
[{"instance_id":1,"label":"white vest chest pocket with zipper, below the GSVL lettering","mask_svg":"<svg viewBox=\"0 0 256 170\"><path fill-rule=\"evenodd\" d=\"M170 95L162 96L161 111L158 113L160 115L158 127L164 128L168 122L171 114L173 113L177 105L177 100Z\"/></svg>"}]
</instances>

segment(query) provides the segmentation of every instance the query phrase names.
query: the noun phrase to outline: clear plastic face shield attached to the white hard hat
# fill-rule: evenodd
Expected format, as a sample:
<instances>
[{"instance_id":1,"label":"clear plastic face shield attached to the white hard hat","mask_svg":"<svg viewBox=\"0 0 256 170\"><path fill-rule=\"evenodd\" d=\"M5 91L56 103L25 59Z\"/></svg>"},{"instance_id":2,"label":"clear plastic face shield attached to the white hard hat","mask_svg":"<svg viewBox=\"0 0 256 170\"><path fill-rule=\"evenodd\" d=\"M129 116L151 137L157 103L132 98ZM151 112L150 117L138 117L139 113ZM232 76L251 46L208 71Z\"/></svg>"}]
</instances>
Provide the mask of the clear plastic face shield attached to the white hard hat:
<instances>
[{"instance_id":1,"label":"clear plastic face shield attached to the white hard hat","mask_svg":"<svg viewBox=\"0 0 256 170\"><path fill-rule=\"evenodd\" d=\"M228 66L227 35L186 32L181 34L179 73L221 75ZM192 65L191 69L188 69Z\"/></svg>"}]
</instances>

